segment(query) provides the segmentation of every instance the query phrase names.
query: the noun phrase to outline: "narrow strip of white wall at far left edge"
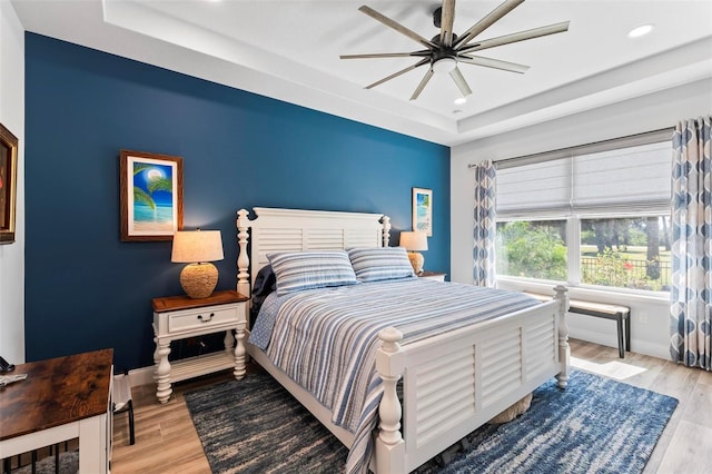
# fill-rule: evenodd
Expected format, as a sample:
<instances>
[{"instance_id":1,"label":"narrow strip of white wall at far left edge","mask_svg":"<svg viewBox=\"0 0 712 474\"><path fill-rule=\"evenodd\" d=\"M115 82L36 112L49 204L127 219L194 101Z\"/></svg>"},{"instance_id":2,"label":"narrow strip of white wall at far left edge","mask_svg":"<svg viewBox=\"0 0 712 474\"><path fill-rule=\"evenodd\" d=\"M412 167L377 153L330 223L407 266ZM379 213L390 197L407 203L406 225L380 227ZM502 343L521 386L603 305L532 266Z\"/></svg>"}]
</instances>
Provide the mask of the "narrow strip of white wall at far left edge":
<instances>
[{"instance_id":1,"label":"narrow strip of white wall at far left edge","mask_svg":"<svg viewBox=\"0 0 712 474\"><path fill-rule=\"evenodd\" d=\"M0 0L0 122L20 141L16 241L0 245L0 355L24 362L24 29Z\"/></svg>"}]
</instances>

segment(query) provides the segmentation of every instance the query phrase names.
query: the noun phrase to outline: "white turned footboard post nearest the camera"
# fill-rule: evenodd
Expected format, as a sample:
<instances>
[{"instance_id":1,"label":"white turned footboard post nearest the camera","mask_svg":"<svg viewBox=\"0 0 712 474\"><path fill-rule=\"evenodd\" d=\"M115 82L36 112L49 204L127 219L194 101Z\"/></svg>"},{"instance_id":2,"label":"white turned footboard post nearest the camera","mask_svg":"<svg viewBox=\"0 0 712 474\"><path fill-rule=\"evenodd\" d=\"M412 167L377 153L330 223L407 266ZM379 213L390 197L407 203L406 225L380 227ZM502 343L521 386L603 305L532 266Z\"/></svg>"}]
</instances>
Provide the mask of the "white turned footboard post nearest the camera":
<instances>
[{"instance_id":1,"label":"white turned footboard post nearest the camera","mask_svg":"<svg viewBox=\"0 0 712 474\"><path fill-rule=\"evenodd\" d=\"M400 436L403 409L396 393L396 384L405 365L399 340L403 333L386 327L378 333L382 345L376 353L376 371L383 379L383 397L378 405L380 418L376 436L376 472L405 473L405 442Z\"/></svg>"}]
</instances>

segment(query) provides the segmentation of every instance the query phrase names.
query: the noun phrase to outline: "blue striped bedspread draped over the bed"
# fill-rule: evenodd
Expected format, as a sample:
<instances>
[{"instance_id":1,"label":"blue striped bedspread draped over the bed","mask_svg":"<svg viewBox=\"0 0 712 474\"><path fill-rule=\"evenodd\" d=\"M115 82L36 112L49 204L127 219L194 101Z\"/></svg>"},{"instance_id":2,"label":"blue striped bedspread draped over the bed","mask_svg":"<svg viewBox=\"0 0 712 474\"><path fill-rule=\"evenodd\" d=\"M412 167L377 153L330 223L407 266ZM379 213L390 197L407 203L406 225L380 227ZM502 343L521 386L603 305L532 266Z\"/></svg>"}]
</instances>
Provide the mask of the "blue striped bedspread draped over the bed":
<instances>
[{"instance_id":1,"label":"blue striped bedspread draped over the bed","mask_svg":"<svg viewBox=\"0 0 712 474\"><path fill-rule=\"evenodd\" d=\"M536 304L518 293L424 278L271 294L249 340L355 434L347 472L365 472L383 394L375 369L380 329L397 327L407 345Z\"/></svg>"}]
</instances>

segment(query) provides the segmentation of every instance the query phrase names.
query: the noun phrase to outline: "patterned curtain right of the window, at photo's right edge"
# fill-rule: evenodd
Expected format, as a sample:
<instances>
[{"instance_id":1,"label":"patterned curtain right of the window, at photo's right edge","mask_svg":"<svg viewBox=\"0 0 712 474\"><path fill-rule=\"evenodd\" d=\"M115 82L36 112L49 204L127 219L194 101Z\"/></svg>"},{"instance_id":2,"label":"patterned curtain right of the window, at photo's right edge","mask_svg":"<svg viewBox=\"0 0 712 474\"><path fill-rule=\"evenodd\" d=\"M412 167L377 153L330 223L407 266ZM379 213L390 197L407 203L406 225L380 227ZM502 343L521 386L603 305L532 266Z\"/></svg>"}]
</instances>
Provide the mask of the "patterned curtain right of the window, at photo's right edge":
<instances>
[{"instance_id":1,"label":"patterned curtain right of the window, at photo's right edge","mask_svg":"<svg viewBox=\"0 0 712 474\"><path fill-rule=\"evenodd\" d=\"M712 310L712 117L678 124L672 139L673 361L710 371Z\"/></svg>"}]
</instances>

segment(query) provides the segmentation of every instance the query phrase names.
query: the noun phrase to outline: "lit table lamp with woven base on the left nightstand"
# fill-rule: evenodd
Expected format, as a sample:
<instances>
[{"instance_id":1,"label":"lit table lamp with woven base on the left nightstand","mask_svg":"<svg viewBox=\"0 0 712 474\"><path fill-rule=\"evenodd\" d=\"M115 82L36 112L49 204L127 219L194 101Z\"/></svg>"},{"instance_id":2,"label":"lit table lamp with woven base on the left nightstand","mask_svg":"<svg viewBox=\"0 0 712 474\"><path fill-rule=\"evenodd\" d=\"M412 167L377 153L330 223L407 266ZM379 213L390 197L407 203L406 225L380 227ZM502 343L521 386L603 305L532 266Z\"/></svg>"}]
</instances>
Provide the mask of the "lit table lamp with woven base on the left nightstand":
<instances>
[{"instance_id":1,"label":"lit table lamp with woven base on the left nightstand","mask_svg":"<svg viewBox=\"0 0 712 474\"><path fill-rule=\"evenodd\" d=\"M218 269L210 261L221 260L219 230L178 230L174 234L170 261L188 264L180 271L180 286L191 298L207 298L218 284Z\"/></svg>"}]
</instances>

